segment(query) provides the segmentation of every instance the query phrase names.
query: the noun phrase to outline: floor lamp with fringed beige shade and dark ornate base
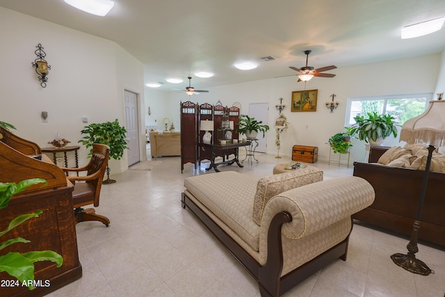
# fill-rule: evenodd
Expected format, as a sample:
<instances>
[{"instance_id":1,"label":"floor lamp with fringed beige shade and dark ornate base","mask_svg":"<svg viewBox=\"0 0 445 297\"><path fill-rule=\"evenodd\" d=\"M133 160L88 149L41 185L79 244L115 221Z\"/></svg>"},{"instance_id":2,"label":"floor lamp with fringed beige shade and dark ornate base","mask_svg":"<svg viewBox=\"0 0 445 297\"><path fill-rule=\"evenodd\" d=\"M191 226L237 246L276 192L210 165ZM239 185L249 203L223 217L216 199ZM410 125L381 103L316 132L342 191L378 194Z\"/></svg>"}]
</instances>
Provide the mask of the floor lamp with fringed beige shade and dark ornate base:
<instances>
[{"instance_id":1,"label":"floor lamp with fringed beige shade and dark ornate base","mask_svg":"<svg viewBox=\"0 0 445 297\"><path fill-rule=\"evenodd\" d=\"M421 275L434 273L424 262L416 259L417 235L420 228L420 218L422 214L423 201L425 200L426 186L428 184L428 175L430 173L432 152L436 147L445 144L445 101L442 96L437 95L439 100L431 101L428 109L419 116L407 120L402 127L401 141L407 143L428 143L428 158L426 159L425 174L420 193L419 208L412 228L410 242L407 244L407 254L396 253L391 255L395 264L401 266L407 271Z\"/></svg>"}]
</instances>

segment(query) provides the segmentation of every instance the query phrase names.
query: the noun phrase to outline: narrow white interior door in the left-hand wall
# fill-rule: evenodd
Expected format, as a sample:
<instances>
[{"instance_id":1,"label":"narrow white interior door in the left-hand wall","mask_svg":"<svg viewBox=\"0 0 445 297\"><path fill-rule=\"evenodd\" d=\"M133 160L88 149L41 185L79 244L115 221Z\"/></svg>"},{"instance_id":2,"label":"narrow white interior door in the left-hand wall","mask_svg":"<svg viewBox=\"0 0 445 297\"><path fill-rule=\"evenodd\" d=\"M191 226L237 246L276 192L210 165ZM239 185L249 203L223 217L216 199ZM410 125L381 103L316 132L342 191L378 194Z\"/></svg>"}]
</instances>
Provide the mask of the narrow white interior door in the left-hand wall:
<instances>
[{"instance_id":1,"label":"narrow white interior door in the left-hand wall","mask_svg":"<svg viewBox=\"0 0 445 297\"><path fill-rule=\"evenodd\" d=\"M125 90L125 127L127 129L128 166L138 163L139 159L139 125L138 96Z\"/></svg>"}]
</instances>

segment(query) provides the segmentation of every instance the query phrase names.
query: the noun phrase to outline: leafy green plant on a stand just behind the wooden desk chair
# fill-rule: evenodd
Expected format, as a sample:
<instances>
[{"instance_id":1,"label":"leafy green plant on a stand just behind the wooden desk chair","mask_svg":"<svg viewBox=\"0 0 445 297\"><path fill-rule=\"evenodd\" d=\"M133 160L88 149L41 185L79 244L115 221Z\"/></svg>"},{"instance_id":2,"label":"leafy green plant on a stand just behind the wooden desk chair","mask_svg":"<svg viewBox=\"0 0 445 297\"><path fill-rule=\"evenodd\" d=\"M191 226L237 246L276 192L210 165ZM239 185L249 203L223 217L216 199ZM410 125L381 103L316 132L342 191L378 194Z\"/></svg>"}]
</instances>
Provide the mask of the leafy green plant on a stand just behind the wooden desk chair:
<instances>
[{"instance_id":1,"label":"leafy green plant on a stand just behind the wooden desk chair","mask_svg":"<svg viewBox=\"0 0 445 297\"><path fill-rule=\"evenodd\" d=\"M91 147L89 156L92 154L92 145L94 143L102 143L110 147L110 158L115 160L122 159L127 145L127 129L119 125L116 119L114 122L104 122L102 124L91 124L81 130L81 134L86 134L79 141L86 147ZM106 180L103 184L113 184L116 181L110 179L110 168L106 166Z\"/></svg>"}]
</instances>

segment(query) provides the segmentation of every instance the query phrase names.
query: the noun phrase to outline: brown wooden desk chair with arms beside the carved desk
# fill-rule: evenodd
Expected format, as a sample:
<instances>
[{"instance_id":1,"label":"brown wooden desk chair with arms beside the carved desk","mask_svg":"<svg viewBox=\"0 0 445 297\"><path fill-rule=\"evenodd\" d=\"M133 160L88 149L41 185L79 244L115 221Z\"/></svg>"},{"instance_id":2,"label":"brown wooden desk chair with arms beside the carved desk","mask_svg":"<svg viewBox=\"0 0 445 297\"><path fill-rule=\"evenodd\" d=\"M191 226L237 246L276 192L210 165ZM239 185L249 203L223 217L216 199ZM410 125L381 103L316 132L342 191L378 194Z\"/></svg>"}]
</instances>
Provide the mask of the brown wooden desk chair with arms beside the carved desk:
<instances>
[{"instance_id":1,"label":"brown wooden desk chair with arms beside the carved desk","mask_svg":"<svg viewBox=\"0 0 445 297\"><path fill-rule=\"evenodd\" d=\"M94 204L95 207L99 206L100 188L104 179L109 155L110 147L108 147L108 145L95 143L92 146L90 162L86 166L82 168L62 168L65 172L87 172L86 176L67 177L70 179L70 182L74 184L72 200L74 204L74 216L77 223L86 220L98 220L99 222L104 223L106 227L110 224L110 220L106 216L96 214L95 209L81 208L88 204Z\"/></svg>"}]
</instances>

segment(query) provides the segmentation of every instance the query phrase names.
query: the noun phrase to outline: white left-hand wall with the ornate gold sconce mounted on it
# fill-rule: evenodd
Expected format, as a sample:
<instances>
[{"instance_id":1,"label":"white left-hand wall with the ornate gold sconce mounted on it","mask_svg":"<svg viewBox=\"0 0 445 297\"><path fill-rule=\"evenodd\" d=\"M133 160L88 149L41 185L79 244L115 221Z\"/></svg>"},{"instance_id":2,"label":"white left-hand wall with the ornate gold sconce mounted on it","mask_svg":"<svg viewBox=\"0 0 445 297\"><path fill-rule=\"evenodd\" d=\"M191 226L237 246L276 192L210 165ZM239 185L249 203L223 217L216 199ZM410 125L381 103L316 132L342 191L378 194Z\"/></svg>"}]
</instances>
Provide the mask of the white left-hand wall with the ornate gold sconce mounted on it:
<instances>
[{"instance_id":1,"label":"white left-hand wall with the ornate gold sconce mounted on it","mask_svg":"<svg viewBox=\"0 0 445 297\"><path fill-rule=\"evenodd\" d=\"M77 145L81 129L93 122L117 118L124 125L124 88L140 93L144 104L143 65L115 42L6 8L0 8L0 40L0 119L41 147L57 134ZM39 43L51 65L46 88L31 65ZM48 122L41 111L48 112ZM80 165L88 162L87 154L82 146ZM112 174L126 169L126 156L111 160L110 167Z\"/></svg>"}]
</instances>

